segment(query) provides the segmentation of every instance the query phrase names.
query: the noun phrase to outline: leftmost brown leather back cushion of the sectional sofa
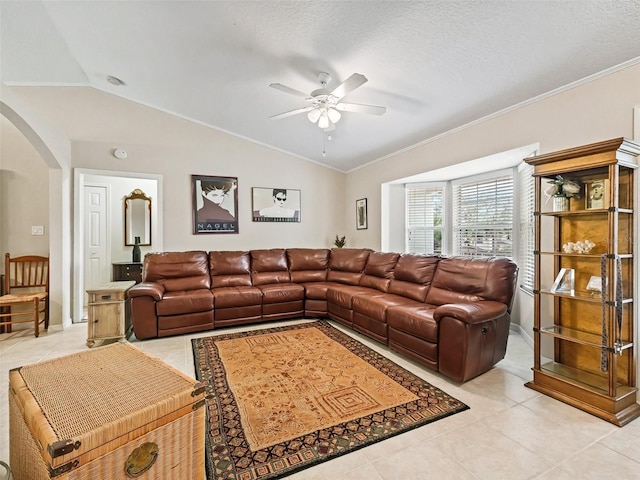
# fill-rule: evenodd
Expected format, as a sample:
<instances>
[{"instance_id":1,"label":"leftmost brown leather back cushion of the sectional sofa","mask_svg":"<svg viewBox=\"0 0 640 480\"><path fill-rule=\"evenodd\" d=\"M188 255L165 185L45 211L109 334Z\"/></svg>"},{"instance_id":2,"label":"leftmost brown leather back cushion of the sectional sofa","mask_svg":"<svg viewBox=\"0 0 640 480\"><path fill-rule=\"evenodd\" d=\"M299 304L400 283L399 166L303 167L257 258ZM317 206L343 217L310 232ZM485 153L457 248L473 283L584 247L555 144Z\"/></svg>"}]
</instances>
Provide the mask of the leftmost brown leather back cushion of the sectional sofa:
<instances>
[{"instance_id":1,"label":"leftmost brown leather back cushion of the sectional sofa","mask_svg":"<svg viewBox=\"0 0 640 480\"><path fill-rule=\"evenodd\" d=\"M148 253L144 257L144 281L160 283L168 292L208 289L207 252Z\"/></svg>"}]
</instances>

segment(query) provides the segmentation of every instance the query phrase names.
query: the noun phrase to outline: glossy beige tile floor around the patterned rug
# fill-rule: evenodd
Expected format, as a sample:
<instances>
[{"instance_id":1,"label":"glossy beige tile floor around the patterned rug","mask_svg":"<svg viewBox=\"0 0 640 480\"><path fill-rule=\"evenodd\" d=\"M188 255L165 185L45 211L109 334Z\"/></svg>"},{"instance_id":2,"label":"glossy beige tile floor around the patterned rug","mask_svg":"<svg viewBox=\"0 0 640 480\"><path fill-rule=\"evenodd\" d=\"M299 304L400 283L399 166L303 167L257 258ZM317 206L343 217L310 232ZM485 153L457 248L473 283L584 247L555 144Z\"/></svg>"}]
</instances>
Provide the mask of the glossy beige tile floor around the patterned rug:
<instances>
[{"instance_id":1,"label":"glossy beige tile floor around the patterned rug","mask_svg":"<svg viewBox=\"0 0 640 480\"><path fill-rule=\"evenodd\" d=\"M287 322L269 323L269 326ZM517 333L491 371L463 385L349 332L471 408L465 412L292 475L295 480L396 479L640 479L640 419L623 428L524 387L533 354ZM264 328L264 325L244 330ZM240 329L224 329L230 333ZM204 332L135 341L193 376L190 340ZM11 368L85 350L86 325L0 334L0 390ZM0 397L0 460L9 457L7 396ZM169 479L167 479L169 480Z\"/></svg>"}]
</instances>

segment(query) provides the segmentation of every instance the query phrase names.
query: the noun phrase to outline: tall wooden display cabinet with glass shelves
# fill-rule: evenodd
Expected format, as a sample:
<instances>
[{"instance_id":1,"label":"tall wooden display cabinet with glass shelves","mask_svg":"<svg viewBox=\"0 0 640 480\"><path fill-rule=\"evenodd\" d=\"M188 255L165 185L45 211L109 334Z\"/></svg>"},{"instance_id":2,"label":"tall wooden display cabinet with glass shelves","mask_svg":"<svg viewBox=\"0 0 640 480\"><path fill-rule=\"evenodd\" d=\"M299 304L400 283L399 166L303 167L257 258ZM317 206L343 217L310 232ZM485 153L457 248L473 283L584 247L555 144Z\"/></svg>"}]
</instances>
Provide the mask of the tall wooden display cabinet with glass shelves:
<instances>
[{"instance_id":1,"label":"tall wooden display cabinet with glass shelves","mask_svg":"<svg viewBox=\"0 0 640 480\"><path fill-rule=\"evenodd\" d=\"M640 416L634 344L638 155L640 144L617 138L525 159L534 166L536 230L534 367L526 385L619 426ZM580 197L554 211L556 202L545 192L558 175L577 183Z\"/></svg>"}]
</instances>

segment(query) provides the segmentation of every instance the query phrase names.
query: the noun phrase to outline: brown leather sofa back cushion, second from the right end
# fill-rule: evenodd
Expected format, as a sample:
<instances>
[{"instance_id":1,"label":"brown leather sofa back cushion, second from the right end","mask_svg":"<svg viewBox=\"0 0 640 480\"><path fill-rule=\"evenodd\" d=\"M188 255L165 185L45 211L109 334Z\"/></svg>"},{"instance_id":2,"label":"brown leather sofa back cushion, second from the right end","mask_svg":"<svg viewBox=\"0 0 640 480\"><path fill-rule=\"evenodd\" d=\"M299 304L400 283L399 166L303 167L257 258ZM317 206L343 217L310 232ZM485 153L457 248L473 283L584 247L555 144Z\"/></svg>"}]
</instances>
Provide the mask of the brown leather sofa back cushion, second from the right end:
<instances>
[{"instance_id":1,"label":"brown leather sofa back cushion, second from the right end","mask_svg":"<svg viewBox=\"0 0 640 480\"><path fill-rule=\"evenodd\" d=\"M424 302L439 261L435 255L402 255L388 292Z\"/></svg>"}]
</instances>

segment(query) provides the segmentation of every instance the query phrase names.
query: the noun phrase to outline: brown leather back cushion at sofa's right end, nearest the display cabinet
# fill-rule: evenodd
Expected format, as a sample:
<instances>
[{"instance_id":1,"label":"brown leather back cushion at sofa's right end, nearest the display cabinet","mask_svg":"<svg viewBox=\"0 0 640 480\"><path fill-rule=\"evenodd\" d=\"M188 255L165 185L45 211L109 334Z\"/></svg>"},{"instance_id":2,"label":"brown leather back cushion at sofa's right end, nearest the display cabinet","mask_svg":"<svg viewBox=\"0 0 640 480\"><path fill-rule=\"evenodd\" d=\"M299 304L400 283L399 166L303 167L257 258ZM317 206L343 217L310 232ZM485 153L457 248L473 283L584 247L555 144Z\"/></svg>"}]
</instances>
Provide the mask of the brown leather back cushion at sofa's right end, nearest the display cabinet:
<instances>
[{"instance_id":1,"label":"brown leather back cushion at sofa's right end, nearest the display cabinet","mask_svg":"<svg viewBox=\"0 0 640 480\"><path fill-rule=\"evenodd\" d=\"M518 268L505 257L450 257L438 264L426 303L493 300L511 308Z\"/></svg>"}]
</instances>

